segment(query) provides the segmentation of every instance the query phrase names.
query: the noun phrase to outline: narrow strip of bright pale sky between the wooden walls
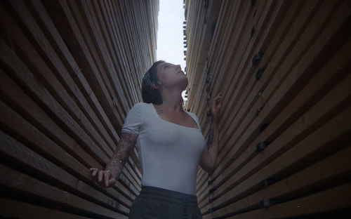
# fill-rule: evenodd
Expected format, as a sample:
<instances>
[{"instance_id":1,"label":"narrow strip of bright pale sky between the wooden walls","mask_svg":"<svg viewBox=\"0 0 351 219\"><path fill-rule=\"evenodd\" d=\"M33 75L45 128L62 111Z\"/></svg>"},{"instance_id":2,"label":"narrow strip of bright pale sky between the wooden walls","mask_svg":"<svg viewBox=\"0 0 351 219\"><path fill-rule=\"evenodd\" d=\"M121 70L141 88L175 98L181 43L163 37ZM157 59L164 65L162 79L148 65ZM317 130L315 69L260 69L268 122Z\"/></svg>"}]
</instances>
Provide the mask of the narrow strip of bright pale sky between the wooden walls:
<instances>
[{"instance_id":1,"label":"narrow strip of bright pale sky between the wooden walls","mask_svg":"<svg viewBox=\"0 0 351 219\"><path fill-rule=\"evenodd\" d=\"M184 21L183 0L159 0L156 59L180 65L183 72L185 72L184 51L187 50L183 44ZM182 95L184 98L185 91Z\"/></svg>"}]
</instances>

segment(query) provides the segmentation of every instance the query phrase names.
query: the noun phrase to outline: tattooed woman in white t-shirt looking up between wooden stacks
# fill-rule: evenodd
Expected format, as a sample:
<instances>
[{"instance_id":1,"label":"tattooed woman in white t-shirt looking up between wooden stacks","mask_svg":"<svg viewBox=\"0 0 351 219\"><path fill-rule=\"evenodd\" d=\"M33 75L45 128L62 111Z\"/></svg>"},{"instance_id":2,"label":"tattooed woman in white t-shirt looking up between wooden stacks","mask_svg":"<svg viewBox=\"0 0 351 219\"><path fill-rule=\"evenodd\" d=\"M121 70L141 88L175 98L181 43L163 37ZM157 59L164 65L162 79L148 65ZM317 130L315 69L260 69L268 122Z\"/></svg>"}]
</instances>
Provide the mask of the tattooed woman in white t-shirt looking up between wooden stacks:
<instances>
[{"instance_id":1,"label":"tattooed woman in white t-shirt looking up between wooden stacks","mask_svg":"<svg viewBox=\"0 0 351 219\"><path fill-rule=\"evenodd\" d=\"M180 65L154 62L143 78L144 102L128 112L117 151L105 171L91 168L101 186L113 186L136 143L143 180L131 206L131 219L202 218L196 196L197 167L209 173L215 169L221 93L211 106L206 144L197 116L183 110L181 93L187 84Z\"/></svg>"}]
</instances>

